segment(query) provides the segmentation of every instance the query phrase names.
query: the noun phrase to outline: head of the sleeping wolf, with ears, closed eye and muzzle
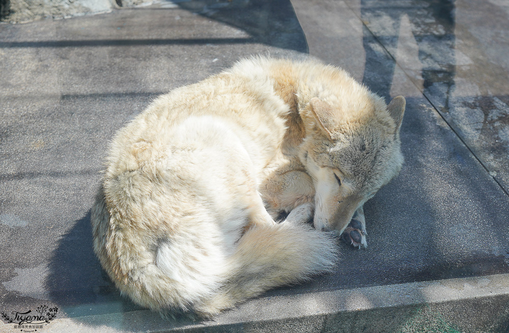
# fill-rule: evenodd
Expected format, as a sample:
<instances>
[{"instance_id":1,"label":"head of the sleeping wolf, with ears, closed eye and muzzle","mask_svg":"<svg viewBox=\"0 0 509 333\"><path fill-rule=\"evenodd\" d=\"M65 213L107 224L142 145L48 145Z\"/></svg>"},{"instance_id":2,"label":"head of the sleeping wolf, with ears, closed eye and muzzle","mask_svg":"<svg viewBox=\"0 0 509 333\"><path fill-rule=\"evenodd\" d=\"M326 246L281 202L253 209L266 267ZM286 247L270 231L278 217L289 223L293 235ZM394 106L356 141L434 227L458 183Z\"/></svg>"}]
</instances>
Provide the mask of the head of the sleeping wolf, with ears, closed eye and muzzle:
<instances>
[{"instance_id":1,"label":"head of the sleeping wolf, with ears, closed eye and muzzle","mask_svg":"<svg viewBox=\"0 0 509 333\"><path fill-rule=\"evenodd\" d=\"M356 102L314 97L300 112L300 159L313 178L314 224L342 233L355 211L400 172L405 98L389 105L374 94Z\"/></svg>"}]
</instances>

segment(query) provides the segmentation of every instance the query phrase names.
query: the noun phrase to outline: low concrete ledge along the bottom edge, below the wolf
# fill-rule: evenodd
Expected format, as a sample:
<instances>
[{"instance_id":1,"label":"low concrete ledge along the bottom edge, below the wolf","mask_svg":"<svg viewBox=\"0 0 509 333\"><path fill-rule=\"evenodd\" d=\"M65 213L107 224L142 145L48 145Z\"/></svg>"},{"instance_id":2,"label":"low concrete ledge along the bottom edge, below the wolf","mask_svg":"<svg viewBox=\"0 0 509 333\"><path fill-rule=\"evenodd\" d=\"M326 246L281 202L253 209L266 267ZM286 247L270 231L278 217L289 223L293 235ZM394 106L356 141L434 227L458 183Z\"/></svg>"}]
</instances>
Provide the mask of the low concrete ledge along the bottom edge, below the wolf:
<instances>
[{"instance_id":1,"label":"low concrete ledge along the bottom edge, below the wolf","mask_svg":"<svg viewBox=\"0 0 509 333\"><path fill-rule=\"evenodd\" d=\"M509 275L469 277L433 282L376 286L260 297L213 321L164 322L148 311L119 318L96 315L55 320L54 332L459 332L504 331L500 320L509 311ZM493 296L501 296L499 302ZM426 302L423 306L422 302ZM253 316L246 318L245 314ZM482 314L482 315L479 315ZM501 316L502 315L502 316ZM494 319L497 318L497 319ZM97 326L97 323L107 326ZM151 325L147 325L151 322Z\"/></svg>"}]
</instances>

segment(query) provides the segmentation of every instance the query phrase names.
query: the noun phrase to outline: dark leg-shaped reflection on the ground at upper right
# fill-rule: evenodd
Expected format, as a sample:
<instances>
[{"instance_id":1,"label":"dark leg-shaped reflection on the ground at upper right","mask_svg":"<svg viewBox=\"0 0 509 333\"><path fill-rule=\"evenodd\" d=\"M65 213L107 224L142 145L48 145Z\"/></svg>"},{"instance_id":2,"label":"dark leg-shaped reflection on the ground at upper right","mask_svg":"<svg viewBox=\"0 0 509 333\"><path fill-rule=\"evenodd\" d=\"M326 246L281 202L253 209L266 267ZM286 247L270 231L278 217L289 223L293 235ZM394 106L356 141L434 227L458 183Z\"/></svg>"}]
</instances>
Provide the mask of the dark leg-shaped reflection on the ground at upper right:
<instances>
[{"instance_id":1,"label":"dark leg-shaped reflection on the ground at upper right","mask_svg":"<svg viewBox=\"0 0 509 333\"><path fill-rule=\"evenodd\" d=\"M390 98L396 64L392 62L390 66L381 66L384 64L380 59L383 52L373 47L373 36L386 49L397 49L401 19L403 15L408 15L412 24L412 34L419 47L418 57L422 64L424 93L440 95L442 105L439 111L447 113L456 76L454 2L455 0L424 0L420 4L398 6L391 5L390 2L361 0L362 20L377 25L378 30L385 33L374 35L368 26L363 26L363 44L366 52L362 80L364 84L386 100Z\"/></svg>"}]
</instances>

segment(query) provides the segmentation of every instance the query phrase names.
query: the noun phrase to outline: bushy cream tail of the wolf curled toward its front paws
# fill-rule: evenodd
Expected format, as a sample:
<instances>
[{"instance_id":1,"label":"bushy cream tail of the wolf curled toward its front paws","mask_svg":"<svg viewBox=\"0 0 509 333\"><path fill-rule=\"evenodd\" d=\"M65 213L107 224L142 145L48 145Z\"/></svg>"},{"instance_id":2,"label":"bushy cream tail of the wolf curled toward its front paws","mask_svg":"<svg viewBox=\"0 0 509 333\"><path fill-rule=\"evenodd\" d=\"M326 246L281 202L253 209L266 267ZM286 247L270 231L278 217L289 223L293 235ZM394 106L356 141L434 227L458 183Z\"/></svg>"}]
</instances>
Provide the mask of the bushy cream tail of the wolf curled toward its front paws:
<instances>
[{"instance_id":1,"label":"bushy cream tail of the wolf curled toward its front paws","mask_svg":"<svg viewBox=\"0 0 509 333\"><path fill-rule=\"evenodd\" d=\"M335 239L306 224L257 225L239 240L228 259L229 276L217 293L195 310L205 315L233 307L282 285L332 271Z\"/></svg>"}]
</instances>

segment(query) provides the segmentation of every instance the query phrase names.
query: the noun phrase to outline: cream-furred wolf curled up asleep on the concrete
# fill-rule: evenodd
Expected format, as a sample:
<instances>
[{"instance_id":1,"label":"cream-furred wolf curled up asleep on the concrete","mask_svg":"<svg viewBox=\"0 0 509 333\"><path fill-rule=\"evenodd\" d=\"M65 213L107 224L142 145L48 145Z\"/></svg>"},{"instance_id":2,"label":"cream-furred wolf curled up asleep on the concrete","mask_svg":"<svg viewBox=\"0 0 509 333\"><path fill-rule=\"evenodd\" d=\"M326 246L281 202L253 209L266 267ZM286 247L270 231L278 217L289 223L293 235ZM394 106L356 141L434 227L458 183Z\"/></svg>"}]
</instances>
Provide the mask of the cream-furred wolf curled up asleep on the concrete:
<instances>
[{"instance_id":1,"label":"cream-furred wolf curled up asleep on the concrete","mask_svg":"<svg viewBox=\"0 0 509 333\"><path fill-rule=\"evenodd\" d=\"M400 171L404 109L314 61L243 60L175 89L110 145L95 253L136 303L203 316L330 271L327 231L365 246L362 205Z\"/></svg>"}]
</instances>

